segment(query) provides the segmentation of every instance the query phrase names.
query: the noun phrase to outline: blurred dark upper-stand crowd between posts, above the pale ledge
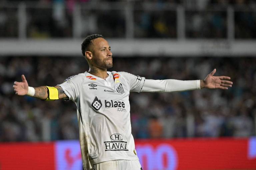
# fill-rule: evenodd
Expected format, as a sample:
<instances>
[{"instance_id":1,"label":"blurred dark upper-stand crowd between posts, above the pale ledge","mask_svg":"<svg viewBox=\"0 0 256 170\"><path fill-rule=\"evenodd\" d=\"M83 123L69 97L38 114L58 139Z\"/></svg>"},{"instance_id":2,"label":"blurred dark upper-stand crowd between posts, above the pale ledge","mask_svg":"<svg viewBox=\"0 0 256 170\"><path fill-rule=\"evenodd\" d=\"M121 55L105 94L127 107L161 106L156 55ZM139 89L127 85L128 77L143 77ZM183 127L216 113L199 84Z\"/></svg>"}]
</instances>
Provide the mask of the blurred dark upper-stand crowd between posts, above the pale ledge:
<instances>
[{"instance_id":1,"label":"blurred dark upper-stand crowd between posts, above the pale ledge","mask_svg":"<svg viewBox=\"0 0 256 170\"><path fill-rule=\"evenodd\" d=\"M237 39L256 38L256 2L254 0L131 0L134 11L126 16L124 6L104 4L104 10L85 9L92 0L40 0L24 1L26 9L26 34L28 38L70 38L74 30L79 36L99 33L108 38L125 38L126 24L133 17L135 38L177 38L177 5L185 7L186 38L227 38L227 7L234 8L234 30ZM120 0L94 0L93 2L118 2ZM5 3L3 3L5 2ZM0 3L0 37L18 37L18 5L11 0ZM16 1L14 1L16 2ZM148 5L154 3L153 6ZM32 3L32 5L31 5ZM81 4L81 17L73 15L75 4ZM165 3L173 4L166 8ZM13 6L16 6L13 7ZM30 5L29 5L30 4ZM50 7L49 7L50 6ZM111 10L110 10L111 9ZM79 21L74 21L79 20ZM76 28L73 28L74 22ZM180 21L182 22L182 21ZM79 32L80 32L79 31Z\"/></svg>"}]
</instances>

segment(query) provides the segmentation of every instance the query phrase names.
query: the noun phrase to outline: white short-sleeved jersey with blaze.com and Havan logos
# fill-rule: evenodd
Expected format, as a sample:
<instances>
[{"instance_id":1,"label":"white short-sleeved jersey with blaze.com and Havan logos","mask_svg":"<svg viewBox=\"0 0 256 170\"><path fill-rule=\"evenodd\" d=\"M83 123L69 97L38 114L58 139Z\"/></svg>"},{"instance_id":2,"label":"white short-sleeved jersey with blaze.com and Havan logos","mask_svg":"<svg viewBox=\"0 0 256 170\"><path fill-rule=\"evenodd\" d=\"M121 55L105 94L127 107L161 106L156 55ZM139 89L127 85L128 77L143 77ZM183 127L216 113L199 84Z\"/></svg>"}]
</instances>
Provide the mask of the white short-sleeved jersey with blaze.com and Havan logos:
<instances>
[{"instance_id":1,"label":"white short-sleeved jersey with blaze.com and Havan logos","mask_svg":"<svg viewBox=\"0 0 256 170\"><path fill-rule=\"evenodd\" d=\"M104 80L88 72L59 86L76 103L84 169L110 160L138 160L131 133L130 92L141 92L145 78L107 72Z\"/></svg>"}]
</instances>

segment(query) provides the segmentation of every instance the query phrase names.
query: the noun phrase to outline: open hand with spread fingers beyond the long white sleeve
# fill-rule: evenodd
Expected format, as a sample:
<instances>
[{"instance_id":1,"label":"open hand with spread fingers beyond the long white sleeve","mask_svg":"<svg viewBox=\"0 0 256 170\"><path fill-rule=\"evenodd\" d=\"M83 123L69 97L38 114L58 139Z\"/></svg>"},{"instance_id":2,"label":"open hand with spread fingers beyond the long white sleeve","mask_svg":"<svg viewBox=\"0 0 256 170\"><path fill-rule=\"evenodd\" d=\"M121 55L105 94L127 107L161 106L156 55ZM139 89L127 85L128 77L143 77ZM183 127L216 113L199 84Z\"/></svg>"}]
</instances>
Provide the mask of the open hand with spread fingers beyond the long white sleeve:
<instances>
[{"instance_id":1,"label":"open hand with spread fingers beyond the long white sleeve","mask_svg":"<svg viewBox=\"0 0 256 170\"><path fill-rule=\"evenodd\" d=\"M214 69L210 74L206 76L204 81L201 81L201 88L209 89L228 89L232 87L233 82L228 81L231 78L228 76L214 76L216 69Z\"/></svg>"}]
</instances>

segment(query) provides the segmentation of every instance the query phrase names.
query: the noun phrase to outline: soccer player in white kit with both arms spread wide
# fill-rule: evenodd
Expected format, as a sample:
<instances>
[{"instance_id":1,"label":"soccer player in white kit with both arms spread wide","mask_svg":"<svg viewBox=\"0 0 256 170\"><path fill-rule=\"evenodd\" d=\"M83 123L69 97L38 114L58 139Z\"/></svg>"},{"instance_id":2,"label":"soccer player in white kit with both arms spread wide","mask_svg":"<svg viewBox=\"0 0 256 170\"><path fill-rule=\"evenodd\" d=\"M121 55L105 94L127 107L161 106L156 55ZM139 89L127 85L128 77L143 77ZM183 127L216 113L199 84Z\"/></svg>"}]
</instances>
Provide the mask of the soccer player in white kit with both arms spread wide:
<instances>
[{"instance_id":1,"label":"soccer player in white kit with both arms spread wide","mask_svg":"<svg viewBox=\"0 0 256 170\"><path fill-rule=\"evenodd\" d=\"M41 100L72 100L77 106L79 138L85 170L141 170L131 133L130 92L174 92L202 88L228 89L227 76L204 80L149 80L127 72L109 72L112 52L101 35L87 36L82 54L89 70L67 78L55 87L30 87L24 75L14 82L17 95Z\"/></svg>"}]
</instances>

